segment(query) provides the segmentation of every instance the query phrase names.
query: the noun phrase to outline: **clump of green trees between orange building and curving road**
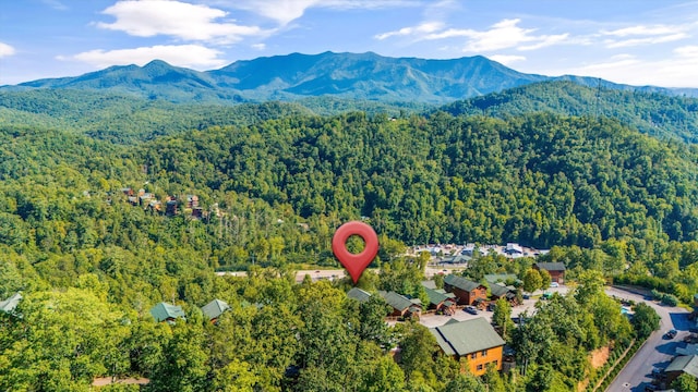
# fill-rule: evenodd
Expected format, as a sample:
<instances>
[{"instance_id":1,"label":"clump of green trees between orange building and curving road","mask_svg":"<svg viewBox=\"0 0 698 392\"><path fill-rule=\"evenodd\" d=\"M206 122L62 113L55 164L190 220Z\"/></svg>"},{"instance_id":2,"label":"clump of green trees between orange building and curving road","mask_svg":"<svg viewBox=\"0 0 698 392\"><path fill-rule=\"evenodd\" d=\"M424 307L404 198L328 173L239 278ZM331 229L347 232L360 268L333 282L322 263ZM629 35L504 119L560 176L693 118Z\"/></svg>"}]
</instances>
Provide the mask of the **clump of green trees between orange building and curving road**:
<instances>
[{"instance_id":1,"label":"clump of green trees between orange building and curving road","mask_svg":"<svg viewBox=\"0 0 698 392\"><path fill-rule=\"evenodd\" d=\"M512 344L529 378L527 391L571 391L590 371L587 353L610 342L623 346L635 332L618 304L603 292L598 271L579 277L578 289L537 304L520 317Z\"/></svg>"}]
</instances>

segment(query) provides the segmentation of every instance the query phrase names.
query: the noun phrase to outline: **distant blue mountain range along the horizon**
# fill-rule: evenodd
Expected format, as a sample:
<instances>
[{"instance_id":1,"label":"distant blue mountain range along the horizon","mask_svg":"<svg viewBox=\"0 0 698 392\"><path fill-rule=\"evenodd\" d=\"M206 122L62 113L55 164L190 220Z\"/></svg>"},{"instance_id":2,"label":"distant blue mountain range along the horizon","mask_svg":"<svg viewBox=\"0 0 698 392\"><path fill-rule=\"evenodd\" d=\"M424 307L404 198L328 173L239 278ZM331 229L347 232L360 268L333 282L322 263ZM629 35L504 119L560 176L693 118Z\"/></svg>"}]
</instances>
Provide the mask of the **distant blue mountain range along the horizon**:
<instances>
[{"instance_id":1,"label":"distant blue mountain range along the horizon","mask_svg":"<svg viewBox=\"0 0 698 392\"><path fill-rule=\"evenodd\" d=\"M0 91L37 88L101 90L177 103L234 105L329 96L442 105L546 81L698 97L696 88L637 87L595 77L527 74L482 56L426 60L389 58L373 52L291 53L237 61L206 72L155 60L144 66L110 66L75 77L2 86Z\"/></svg>"}]
</instances>

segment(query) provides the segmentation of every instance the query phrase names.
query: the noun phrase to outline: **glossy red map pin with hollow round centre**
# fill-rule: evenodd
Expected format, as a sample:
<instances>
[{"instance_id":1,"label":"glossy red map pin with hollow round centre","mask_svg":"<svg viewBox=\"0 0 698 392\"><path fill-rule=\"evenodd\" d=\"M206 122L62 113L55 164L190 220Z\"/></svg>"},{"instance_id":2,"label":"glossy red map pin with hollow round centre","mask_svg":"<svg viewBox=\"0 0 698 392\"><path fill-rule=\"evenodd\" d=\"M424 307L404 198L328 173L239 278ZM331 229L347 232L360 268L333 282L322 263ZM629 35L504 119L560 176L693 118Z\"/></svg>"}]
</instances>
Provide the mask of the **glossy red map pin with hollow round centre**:
<instances>
[{"instance_id":1,"label":"glossy red map pin with hollow round centre","mask_svg":"<svg viewBox=\"0 0 698 392\"><path fill-rule=\"evenodd\" d=\"M358 255L347 250L347 240L352 235L362 237L365 243L363 252ZM340 225L335 232L335 236L332 237L332 252L334 252L339 262L345 266L353 280L353 284L357 284L363 270L369 267L378 253L378 236L373 231L373 228L363 222L347 222Z\"/></svg>"}]
</instances>

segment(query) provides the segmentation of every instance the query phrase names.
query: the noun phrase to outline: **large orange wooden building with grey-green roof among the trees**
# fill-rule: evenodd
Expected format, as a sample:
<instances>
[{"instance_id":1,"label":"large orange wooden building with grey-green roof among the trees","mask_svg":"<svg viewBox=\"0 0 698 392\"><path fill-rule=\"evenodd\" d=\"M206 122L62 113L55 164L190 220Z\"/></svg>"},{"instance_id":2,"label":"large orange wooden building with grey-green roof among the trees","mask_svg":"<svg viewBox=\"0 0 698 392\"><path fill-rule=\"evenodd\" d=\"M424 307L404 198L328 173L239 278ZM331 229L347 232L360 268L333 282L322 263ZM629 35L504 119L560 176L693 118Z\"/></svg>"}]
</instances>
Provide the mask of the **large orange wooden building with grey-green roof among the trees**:
<instances>
[{"instance_id":1,"label":"large orange wooden building with grey-green roof among the trees","mask_svg":"<svg viewBox=\"0 0 698 392\"><path fill-rule=\"evenodd\" d=\"M444 354L456 360L466 358L465 366L476 376L484 375L488 365L502 370L504 340L483 317L467 321L450 320L444 326L430 329ZM466 369L461 368L461 372Z\"/></svg>"}]
</instances>

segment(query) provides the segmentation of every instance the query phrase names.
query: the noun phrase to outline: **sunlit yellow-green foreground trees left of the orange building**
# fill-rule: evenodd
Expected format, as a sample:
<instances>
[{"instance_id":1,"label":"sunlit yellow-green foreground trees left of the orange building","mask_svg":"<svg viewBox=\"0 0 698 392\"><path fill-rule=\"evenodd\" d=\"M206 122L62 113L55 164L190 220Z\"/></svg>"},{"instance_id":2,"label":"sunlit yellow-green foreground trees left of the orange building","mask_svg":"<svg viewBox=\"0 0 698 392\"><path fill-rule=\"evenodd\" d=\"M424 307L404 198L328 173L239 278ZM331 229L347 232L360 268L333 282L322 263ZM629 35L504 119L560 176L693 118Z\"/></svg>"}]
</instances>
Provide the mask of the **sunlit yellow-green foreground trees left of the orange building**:
<instances>
[{"instance_id":1,"label":"sunlit yellow-green foreground trees left of the orange building","mask_svg":"<svg viewBox=\"0 0 698 392\"><path fill-rule=\"evenodd\" d=\"M424 327L388 329L385 303L359 304L327 281L258 269L217 278L205 296L232 309L213 324L204 301L180 302L186 321L173 326L109 303L99 274L79 281L27 294L21 317L0 315L2 390L86 391L96 376L128 375L149 378L147 391L444 391L458 379ZM388 354L396 343L399 363Z\"/></svg>"}]
</instances>

